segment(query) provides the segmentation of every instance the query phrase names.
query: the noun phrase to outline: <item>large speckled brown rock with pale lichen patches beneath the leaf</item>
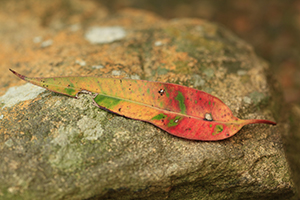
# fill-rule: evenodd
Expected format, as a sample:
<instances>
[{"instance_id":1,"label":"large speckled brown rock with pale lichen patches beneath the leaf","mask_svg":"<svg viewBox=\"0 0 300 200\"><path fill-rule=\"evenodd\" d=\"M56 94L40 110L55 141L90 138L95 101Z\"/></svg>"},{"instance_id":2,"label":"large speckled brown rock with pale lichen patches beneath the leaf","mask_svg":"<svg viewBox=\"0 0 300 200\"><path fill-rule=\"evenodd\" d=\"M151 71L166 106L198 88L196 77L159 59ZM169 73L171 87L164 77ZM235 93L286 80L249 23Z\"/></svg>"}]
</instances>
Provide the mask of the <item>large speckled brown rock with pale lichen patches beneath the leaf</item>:
<instances>
[{"instance_id":1,"label":"large speckled brown rock with pale lichen patches beneath the leaf","mask_svg":"<svg viewBox=\"0 0 300 200\"><path fill-rule=\"evenodd\" d=\"M0 8L0 199L293 196L277 84L251 46L225 28L139 10L109 15L87 1L5 1ZM116 37L93 42L91 27ZM89 95L25 87L8 68L178 83L219 97L237 117L278 125L248 125L218 142L184 140L100 110Z\"/></svg>"}]
</instances>

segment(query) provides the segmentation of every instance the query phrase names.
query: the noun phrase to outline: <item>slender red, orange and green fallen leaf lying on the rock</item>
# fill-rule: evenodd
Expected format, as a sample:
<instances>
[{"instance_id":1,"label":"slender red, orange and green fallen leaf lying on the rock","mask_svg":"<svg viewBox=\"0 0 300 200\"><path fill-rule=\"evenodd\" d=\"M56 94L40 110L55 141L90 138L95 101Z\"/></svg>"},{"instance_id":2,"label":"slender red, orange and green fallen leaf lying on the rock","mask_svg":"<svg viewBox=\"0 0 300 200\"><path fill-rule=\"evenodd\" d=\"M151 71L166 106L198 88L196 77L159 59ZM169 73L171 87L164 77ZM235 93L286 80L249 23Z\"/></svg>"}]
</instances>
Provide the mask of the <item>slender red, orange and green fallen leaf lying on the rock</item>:
<instances>
[{"instance_id":1,"label":"slender red, orange and green fallen leaf lying on the rock","mask_svg":"<svg viewBox=\"0 0 300 200\"><path fill-rule=\"evenodd\" d=\"M10 71L56 93L77 98L78 93L88 92L101 109L149 122L181 138L223 140L247 124L276 125L263 119L238 119L220 99L177 84L100 77L30 78Z\"/></svg>"}]
</instances>

